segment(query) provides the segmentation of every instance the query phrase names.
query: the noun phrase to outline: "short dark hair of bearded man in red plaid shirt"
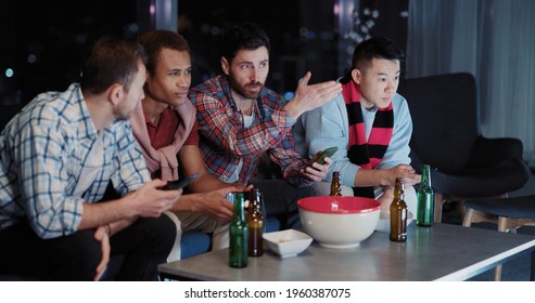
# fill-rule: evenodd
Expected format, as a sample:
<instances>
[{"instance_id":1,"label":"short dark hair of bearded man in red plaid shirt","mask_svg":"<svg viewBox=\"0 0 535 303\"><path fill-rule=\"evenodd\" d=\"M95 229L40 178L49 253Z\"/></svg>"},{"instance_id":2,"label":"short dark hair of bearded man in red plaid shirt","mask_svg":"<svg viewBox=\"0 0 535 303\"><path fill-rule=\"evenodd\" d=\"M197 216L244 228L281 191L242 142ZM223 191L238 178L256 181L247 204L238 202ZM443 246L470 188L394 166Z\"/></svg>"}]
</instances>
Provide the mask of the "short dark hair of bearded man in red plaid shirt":
<instances>
[{"instance_id":1,"label":"short dark hair of bearded man in red plaid shirt","mask_svg":"<svg viewBox=\"0 0 535 303\"><path fill-rule=\"evenodd\" d=\"M266 47L269 53L270 44L266 31L254 23L243 22L232 26L224 34L221 55L231 62L238 51L254 51L260 47Z\"/></svg>"}]
</instances>

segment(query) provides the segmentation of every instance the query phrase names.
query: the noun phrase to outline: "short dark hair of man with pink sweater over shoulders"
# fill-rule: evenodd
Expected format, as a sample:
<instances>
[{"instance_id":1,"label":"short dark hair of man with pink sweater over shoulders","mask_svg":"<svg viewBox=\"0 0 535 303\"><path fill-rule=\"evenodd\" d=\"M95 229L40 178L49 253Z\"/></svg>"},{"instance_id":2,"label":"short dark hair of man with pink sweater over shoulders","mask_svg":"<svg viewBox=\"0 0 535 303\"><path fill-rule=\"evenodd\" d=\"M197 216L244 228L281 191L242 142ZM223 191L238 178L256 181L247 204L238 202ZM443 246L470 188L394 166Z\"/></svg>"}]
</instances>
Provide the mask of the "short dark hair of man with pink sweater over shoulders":
<instances>
[{"instance_id":1,"label":"short dark hair of man with pink sweater over shoulders","mask_svg":"<svg viewBox=\"0 0 535 303\"><path fill-rule=\"evenodd\" d=\"M142 34L138 41L147 52L147 70L155 73L156 62L163 49L171 49L179 52L190 52L190 45L182 35L165 29L150 30Z\"/></svg>"}]
</instances>

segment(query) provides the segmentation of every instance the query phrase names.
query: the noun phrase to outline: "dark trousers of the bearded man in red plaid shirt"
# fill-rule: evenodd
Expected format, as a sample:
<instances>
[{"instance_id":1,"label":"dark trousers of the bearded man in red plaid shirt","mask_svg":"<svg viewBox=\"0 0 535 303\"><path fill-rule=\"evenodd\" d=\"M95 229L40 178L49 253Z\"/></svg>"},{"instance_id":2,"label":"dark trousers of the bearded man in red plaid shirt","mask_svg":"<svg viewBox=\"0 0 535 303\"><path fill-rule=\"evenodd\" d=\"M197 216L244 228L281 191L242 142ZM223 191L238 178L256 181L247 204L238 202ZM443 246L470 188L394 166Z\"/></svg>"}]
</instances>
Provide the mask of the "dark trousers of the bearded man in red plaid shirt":
<instances>
[{"instance_id":1,"label":"dark trousers of the bearded man in red plaid shirt","mask_svg":"<svg viewBox=\"0 0 535 303\"><path fill-rule=\"evenodd\" d=\"M311 186L296 188L284 180L254 180L251 183L260 188L266 213L279 219L281 229L301 227L297 200L315 196Z\"/></svg>"}]
</instances>

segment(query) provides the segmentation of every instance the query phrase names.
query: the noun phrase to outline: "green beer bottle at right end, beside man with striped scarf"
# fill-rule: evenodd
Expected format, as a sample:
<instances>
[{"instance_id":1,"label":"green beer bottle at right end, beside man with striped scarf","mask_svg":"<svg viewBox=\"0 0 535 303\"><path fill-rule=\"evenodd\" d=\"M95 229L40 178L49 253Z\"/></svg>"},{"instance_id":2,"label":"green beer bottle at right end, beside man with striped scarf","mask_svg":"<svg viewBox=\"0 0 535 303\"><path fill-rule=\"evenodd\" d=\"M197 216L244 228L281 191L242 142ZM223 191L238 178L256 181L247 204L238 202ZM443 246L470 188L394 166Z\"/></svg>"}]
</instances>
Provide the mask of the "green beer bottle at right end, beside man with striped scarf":
<instances>
[{"instance_id":1,"label":"green beer bottle at right end, beside man with striped scarf","mask_svg":"<svg viewBox=\"0 0 535 303\"><path fill-rule=\"evenodd\" d=\"M416 225L433 226L435 193L431 187L431 171L428 164L422 166L422 181L417 192L417 199Z\"/></svg>"}]
</instances>

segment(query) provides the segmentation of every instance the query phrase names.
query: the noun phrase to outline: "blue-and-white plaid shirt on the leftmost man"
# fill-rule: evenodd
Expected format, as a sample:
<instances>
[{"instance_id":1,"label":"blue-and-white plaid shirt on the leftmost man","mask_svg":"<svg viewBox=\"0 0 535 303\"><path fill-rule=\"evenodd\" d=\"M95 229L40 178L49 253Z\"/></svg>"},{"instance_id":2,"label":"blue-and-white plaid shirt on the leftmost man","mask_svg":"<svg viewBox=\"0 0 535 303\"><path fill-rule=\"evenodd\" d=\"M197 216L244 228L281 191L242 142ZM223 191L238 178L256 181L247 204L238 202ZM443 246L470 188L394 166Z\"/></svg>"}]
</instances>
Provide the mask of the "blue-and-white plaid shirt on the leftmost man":
<instances>
[{"instance_id":1,"label":"blue-and-white plaid shirt on the leftmost man","mask_svg":"<svg viewBox=\"0 0 535 303\"><path fill-rule=\"evenodd\" d=\"M102 199L110 181L119 195L150 174L128 121L102 130L104 164L81 197L74 196L98 137L77 83L38 95L0 134L0 230L27 221L41 238L73 234L82 203Z\"/></svg>"}]
</instances>

